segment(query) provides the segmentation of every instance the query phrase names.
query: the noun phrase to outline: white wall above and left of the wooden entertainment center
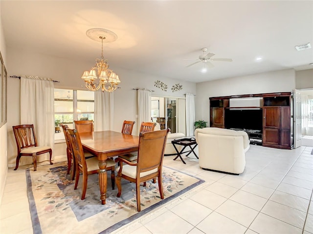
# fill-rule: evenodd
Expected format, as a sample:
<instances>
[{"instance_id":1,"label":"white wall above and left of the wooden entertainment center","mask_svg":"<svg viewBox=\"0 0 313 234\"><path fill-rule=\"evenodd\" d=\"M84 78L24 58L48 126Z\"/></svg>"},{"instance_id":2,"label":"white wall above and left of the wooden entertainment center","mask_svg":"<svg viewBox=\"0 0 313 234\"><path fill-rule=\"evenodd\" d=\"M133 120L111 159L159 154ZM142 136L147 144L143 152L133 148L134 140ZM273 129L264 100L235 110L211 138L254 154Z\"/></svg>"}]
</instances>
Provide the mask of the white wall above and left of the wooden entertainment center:
<instances>
[{"instance_id":1,"label":"white wall above and left of the wooden entertainment center","mask_svg":"<svg viewBox=\"0 0 313 234\"><path fill-rule=\"evenodd\" d=\"M197 83L196 120L203 119L209 123L210 97L291 92L294 87L295 71L293 69Z\"/></svg>"}]
</instances>

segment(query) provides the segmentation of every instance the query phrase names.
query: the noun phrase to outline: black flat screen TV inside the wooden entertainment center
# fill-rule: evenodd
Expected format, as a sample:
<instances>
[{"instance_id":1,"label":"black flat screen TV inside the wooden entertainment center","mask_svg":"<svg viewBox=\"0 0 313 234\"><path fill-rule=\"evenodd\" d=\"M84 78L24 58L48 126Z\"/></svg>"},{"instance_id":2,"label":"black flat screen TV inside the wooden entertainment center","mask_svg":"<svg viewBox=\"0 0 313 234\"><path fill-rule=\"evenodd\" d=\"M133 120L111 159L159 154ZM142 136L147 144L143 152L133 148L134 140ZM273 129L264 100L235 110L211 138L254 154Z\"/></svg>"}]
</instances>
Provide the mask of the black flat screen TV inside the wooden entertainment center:
<instances>
[{"instance_id":1,"label":"black flat screen TV inside the wooden entertainment center","mask_svg":"<svg viewBox=\"0 0 313 234\"><path fill-rule=\"evenodd\" d=\"M225 109L225 128L262 132L262 109Z\"/></svg>"}]
</instances>

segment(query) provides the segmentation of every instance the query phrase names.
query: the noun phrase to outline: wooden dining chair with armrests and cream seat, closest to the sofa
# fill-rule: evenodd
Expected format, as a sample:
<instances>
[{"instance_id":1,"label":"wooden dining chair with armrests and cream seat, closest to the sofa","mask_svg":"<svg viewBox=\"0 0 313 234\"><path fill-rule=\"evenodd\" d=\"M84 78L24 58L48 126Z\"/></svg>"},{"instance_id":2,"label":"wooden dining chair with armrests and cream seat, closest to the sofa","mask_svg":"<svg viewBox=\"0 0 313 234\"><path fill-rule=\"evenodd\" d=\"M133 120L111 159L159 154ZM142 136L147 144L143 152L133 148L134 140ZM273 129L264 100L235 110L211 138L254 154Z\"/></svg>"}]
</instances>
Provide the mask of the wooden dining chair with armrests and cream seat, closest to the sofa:
<instances>
[{"instance_id":1,"label":"wooden dining chair with armrests and cream seat, closest to the sofa","mask_svg":"<svg viewBox=\"0 0 313 234\"><path fill-rule=\"evenodd\" d=\"M131 162L117 157L115 162L120 162L117 168L116 185L117 197L122 194L121 178L136 183L137 211L140 206L140 183L157 177L158 189L161 199L164 198L162 187L162 162L164 157L165 143L169 129L140 133L137 162ZM125 163L126 165L123 165Z\"/></svg>"}]
</instances>

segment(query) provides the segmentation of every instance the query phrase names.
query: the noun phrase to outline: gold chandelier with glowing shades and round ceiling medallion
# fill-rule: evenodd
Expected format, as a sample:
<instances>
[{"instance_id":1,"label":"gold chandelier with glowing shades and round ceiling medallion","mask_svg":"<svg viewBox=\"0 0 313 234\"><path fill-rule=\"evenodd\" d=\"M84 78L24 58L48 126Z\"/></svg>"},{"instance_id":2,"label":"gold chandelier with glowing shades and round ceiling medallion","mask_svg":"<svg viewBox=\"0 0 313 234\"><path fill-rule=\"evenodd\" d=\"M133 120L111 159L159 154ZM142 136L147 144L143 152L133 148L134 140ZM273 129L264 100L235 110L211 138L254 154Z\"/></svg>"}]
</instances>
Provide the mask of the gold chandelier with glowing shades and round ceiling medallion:
<instances>
[{"instance_id":1,"label":"gold chandelier with glowing shades and round ceiling medallion","mask_svg":"<svg viewBox=\"0 0 313 234\"><path fill-rule=\"evenodd\" d=\"M101 39L101 57L96 59L96 64L91 67L90 71L85 71L82 79L85 81L87 89L96 91L101 88L102 92L113 92L117 89L117 85L121 82L111 69L109 69L108 60L103 57L103 40L108 39L108 42L112 42L117 39L115 33L101 28L92 28L87 30L87 36L90 39L97 40ZM99 79L99 83L94 83L96 79Z\"/></svg>"}]
</instances>

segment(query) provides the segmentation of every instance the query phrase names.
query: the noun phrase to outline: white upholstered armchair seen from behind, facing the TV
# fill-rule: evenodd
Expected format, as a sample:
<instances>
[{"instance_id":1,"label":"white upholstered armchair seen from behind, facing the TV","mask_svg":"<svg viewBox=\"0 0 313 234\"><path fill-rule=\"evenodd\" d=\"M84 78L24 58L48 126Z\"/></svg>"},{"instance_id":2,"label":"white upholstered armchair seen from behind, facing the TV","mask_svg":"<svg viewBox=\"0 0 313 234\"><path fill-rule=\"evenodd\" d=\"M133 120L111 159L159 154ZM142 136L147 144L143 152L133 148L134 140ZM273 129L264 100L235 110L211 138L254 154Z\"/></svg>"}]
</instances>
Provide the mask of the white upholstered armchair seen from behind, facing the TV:
<instances>
[{"instance_id":1,"label":"white upholstered armchair seen from behind, facing the TV","mask_svg":"<svg viewBox=\"0 0 313 234\"><path fill-rule=\"evenodd\" d=\"M199 147L202 169L241 174L246 166L246 151L250 148L244 131L223 128L198 128L195 138Z\"/></svg>"}]
</instances>

